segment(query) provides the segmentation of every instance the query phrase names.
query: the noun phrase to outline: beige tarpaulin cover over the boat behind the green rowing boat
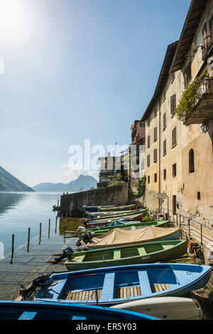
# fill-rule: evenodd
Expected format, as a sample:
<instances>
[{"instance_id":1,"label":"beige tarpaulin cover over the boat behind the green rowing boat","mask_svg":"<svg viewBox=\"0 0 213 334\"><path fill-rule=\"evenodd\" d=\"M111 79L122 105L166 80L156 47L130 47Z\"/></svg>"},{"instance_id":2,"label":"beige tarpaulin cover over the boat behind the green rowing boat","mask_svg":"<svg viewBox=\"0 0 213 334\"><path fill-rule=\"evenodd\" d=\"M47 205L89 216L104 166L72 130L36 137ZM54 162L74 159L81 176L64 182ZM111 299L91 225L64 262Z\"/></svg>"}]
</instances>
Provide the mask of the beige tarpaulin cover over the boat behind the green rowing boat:
<instances>
[{"instance_id":1,"label":"beige tarpaulin cover over the boat behind the green rowing boat","mask_svg":"<svg viewBox=\"0 0 213 334\"><path fill-rule=\"evenodd\" d=\"M156 227L147 226L136 230L124 230L116 228L110 230L105 235L93 237L87 247L111 247L125 244L139 244L141 242L151 242L155 239L168 237L180 231L178 227Z\"/></svg>"}]
</instances>

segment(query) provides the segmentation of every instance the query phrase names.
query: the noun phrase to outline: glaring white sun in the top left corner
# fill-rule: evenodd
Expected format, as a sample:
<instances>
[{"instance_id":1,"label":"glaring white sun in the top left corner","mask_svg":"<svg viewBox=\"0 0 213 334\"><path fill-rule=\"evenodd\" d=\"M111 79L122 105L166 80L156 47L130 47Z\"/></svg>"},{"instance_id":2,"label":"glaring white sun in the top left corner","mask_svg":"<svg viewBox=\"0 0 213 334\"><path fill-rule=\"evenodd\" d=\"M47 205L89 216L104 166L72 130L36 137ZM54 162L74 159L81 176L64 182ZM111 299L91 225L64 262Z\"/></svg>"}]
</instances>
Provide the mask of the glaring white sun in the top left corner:
<instances>
[{"instance_id":1,"label":"glaring white sun in the top left corner","mask_svg":"<svg viewBox=\"0 0 213 334\"><path fill-rule=\"evenodd\" d=\"M0 0L0 44L16 47L33 32L33 11L26 0Z\"/></svg>"}]
</instances>

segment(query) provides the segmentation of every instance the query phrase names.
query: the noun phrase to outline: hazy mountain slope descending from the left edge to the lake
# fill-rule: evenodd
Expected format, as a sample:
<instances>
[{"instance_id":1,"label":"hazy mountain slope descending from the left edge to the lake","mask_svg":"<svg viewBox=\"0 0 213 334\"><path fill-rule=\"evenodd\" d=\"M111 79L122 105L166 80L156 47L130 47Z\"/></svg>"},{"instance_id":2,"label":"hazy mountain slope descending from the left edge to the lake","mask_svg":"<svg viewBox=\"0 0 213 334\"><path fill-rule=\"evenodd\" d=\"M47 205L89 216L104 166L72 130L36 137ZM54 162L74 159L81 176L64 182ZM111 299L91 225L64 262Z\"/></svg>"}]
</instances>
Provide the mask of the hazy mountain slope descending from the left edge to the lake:
<instances>
[{"instance_id":1,"label":"hazy mountain slope descending from the left edge to the lake","mask_svg":"<svg viewBox=\"0 0 213 334\"><path fill-rule=\"evenodd\" d=\"M0 191L34 191L0 166Z\"/></svg>"}]
</instances>

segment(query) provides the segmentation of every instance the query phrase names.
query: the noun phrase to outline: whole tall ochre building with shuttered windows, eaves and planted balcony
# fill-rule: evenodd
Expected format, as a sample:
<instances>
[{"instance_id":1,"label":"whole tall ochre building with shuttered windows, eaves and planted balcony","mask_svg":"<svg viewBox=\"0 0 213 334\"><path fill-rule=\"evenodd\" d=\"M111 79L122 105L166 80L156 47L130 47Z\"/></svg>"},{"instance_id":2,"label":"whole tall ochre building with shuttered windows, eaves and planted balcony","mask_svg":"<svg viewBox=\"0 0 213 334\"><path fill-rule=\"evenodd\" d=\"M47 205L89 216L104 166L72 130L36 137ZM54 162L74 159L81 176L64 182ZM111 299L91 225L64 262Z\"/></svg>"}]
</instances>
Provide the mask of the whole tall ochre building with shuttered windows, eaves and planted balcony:
<instances>
[{"instance_id":1,"label":"whole tall ochre building with shuttered windows, eaves and planted balcony","mask_svg":"<svg viewBox=\"0 0 213 334\"><path fill-rule=\"evenodd\" d=\"M146 121L146 205L158 210L156 193L166 193L163 207L207 225L213 221L212 41L213 0L192 0L141 119ZM182 111L180 102L188 109Z\"/></svg>"}]
</instances>

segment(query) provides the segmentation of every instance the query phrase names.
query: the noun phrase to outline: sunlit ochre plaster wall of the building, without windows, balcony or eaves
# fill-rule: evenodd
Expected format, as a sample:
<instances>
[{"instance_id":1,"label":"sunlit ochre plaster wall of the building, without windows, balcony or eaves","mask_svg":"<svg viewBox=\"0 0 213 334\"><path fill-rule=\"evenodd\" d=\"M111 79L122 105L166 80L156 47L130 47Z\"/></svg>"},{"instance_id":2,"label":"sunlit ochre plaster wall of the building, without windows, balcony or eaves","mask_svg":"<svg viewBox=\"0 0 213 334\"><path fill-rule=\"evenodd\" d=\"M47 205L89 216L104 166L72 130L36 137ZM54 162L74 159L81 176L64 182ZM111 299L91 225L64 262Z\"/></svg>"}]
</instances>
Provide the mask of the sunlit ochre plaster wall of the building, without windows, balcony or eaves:
<instances>
[{"instance_id":1,"label":"sunlit ochre plaster wall of the building, without windows, balcony or eaves","mask_svg":"<svg viewBox=\"0 0 213 334\"><path fill-rule=\"evenodd\" d=\"M173 210L173 195L176 195L178 208L177 212L190 215L202 222L210 224L213 221L213 164L212 164L212 133L213 124L210 124L207 134L202 133L202 124L185 126L176 116L170 114L170 97L176 95L176 105L185 90L183 72L189 61L192 62L192 80L197 77L203 65L202 49L202 27L213 15L213 1L207 1L207 7L200 21L195 38L188 51L185 63L181 70L175 72L175 80L168 75L161 95L156 101L151 114L146 119L146 177L147 192L146 203L151 203L156 208L154 200L155 193L166 193L169 197L169 208ZM194 53L195 48L197 48ZM193 55L191 57L191 55ZM206 65L207 68L207 65ZM204 68L204 70L206 69ZM202 72L204 72L204 70ZM202 73L201 73L202 74ZM158 114L154 116L155 107L158 107ZM163 114L166 113L166 129L163 131ZM160 126L159 126L160 117ZM158 126L158 140L153 142L153 129ZM176 126L177 145L172 148L172 131ZM160 135L160 136L159 136ZM148 149L148 136L151 136L151 147ZM159 150L160 137L160 150ZM166 154L163 156L163 141L166 139ZM153 163L153 149L158 149L158 162ZM189 173L189 151L195 152L195 173ZM147 156L151 155L151 166L147 166ZM160 171L159 171L160 162ZM173 177L172 166L176 163L176 177ZM163 170L166 169L166 180L163 180ZM158 173L158 181L154 183L153 175ZM159 179L160 173L160 179ZM150 183L148 183L150 176ZM197 191L200 191L201 199L197 200ZM148 206L151 206L148 204ZM167 200L163 203L167 208ZM155 209L153 208L153 209Z\"/></svg>"}]
</instances>

